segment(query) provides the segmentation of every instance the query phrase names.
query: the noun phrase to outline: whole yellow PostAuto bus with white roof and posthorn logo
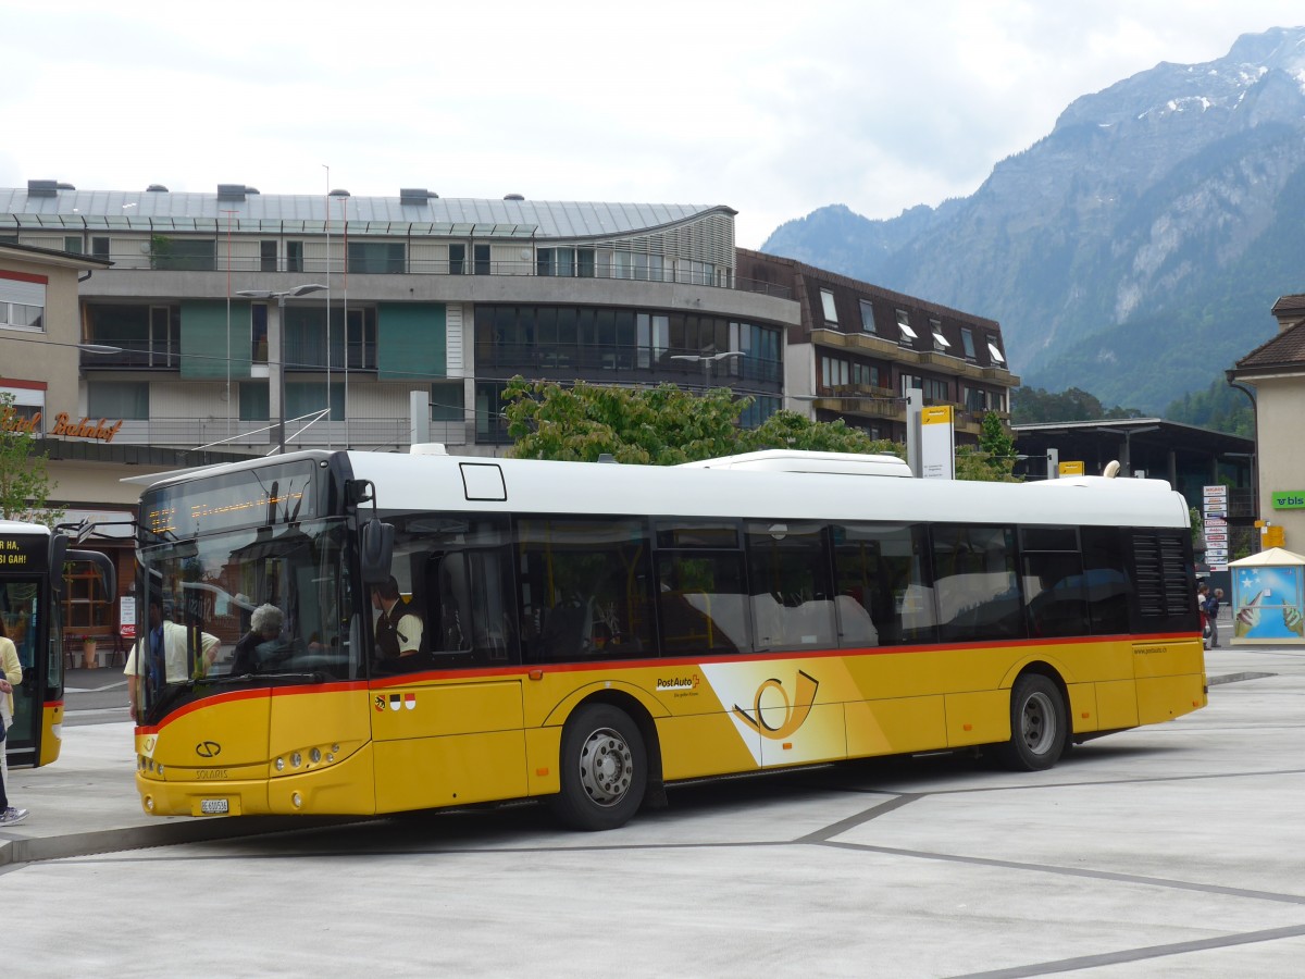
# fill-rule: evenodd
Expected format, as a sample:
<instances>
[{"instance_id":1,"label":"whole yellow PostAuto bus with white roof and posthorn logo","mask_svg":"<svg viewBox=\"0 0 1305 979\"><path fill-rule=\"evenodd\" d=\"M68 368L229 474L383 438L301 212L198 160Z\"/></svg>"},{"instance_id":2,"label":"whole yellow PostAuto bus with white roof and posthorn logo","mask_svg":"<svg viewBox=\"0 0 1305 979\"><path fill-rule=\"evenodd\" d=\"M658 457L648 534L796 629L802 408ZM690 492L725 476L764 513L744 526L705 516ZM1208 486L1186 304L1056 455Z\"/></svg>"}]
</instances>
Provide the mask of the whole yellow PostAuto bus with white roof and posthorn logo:
<instances>
[{"instance_id":1,"label":"whole yellow PostAuto bus with white roof and posthorn logo","mask_svg":"<svg viewBox=\"0 0 1305 979\"><path fill-rule=\"evenodd\" d=\"M1039 770L1206 704L1159 480L303 452L163 478L138 557L171 623L134 658L155 815L539 798L607 829L676 781L946 749Z\"/></svg>"}]
</instances>

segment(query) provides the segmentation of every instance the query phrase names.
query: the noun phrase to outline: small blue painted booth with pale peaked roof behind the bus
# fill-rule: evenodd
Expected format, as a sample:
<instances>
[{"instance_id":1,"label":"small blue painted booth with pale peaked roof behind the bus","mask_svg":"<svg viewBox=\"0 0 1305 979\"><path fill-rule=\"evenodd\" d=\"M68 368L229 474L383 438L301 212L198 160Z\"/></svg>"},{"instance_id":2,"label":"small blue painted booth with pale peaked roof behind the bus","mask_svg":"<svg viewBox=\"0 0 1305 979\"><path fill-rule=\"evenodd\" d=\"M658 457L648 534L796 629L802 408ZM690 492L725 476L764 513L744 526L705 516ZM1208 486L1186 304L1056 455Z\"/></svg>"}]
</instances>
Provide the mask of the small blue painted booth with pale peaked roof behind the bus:
<instances>
[{"instance_id":1,"label":"small blue painted booth with pale peaked roof behind the bus","mask_svg":"<svg viewBox=\"0 0 1305 979\"><path fill-rule=\"evenodd\" d=\"M1282 547L1242 557L1232 572L1233 644L1305 645L1305 557Z\"/></svg>"}]
</instances>

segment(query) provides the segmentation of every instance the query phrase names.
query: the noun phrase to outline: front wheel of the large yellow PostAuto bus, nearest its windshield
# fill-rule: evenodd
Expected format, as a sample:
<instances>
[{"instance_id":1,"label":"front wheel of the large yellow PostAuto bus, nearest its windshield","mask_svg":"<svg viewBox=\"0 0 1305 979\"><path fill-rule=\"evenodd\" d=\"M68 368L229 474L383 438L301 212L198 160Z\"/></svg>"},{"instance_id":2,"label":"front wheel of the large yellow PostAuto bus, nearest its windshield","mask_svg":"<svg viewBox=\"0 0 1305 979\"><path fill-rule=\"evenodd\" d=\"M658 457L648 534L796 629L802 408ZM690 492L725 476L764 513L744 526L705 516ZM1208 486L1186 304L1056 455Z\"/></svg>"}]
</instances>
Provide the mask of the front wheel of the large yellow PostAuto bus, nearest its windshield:
<instances>
[{"instance_id":1,"label":"front wheel of the large yellow PostAuto bus, nearest its windshield","mask_svg":"<svg viewBox=\"0 0 1305 979\"><path fill-rule=\"evenodd\" d=\"M608 704L590 704L566 722L561 792L553 813L572 829L616 829L629 822L647 788L647 752L638 724Z\"/></svg>"}]
</instances>

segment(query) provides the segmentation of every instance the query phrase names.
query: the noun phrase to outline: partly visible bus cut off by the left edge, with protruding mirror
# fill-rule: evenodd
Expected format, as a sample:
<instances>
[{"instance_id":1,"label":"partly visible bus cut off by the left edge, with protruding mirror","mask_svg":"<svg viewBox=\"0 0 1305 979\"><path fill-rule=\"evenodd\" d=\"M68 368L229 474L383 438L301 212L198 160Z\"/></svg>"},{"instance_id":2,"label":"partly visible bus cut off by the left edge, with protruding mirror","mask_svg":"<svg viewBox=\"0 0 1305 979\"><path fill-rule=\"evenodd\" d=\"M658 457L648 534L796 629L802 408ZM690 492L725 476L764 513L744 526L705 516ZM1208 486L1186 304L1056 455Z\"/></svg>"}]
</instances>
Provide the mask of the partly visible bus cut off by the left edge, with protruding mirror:
<instances>
[{"instance_id":1,"label":"partly visible bus cut off by the left edge, with protruding mirror","mask_svg":"<svg viewBox=\"0 0 1305 979\"><path fill-rule=\"evenodd\" d=\"M40 523L0 521L0 621L22 668L22 681L13 688L13 726L3 745L13 766L48 765L63 747L64 565L94 564L104 594L115 593L110 559L69 550L76 542L76 534Z\"/></svg>"}]
</instances>

